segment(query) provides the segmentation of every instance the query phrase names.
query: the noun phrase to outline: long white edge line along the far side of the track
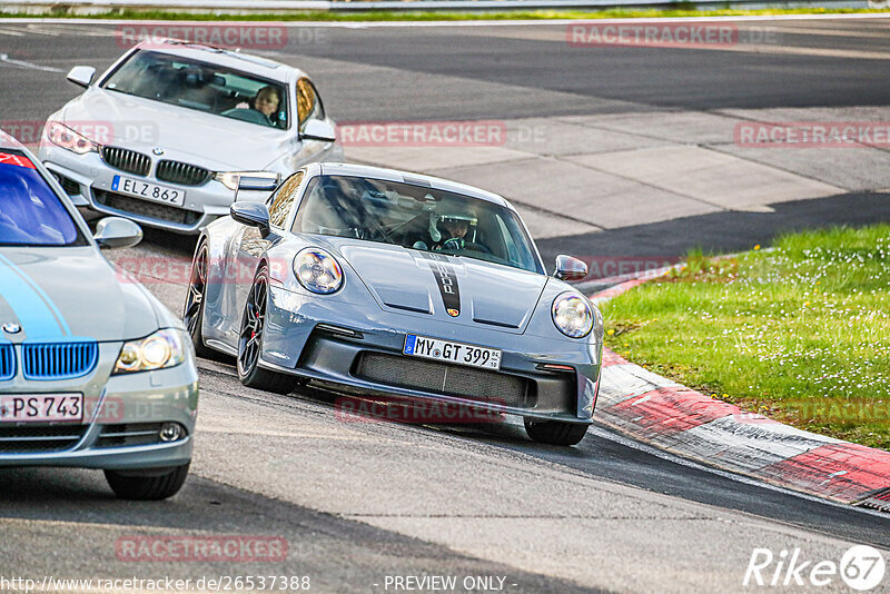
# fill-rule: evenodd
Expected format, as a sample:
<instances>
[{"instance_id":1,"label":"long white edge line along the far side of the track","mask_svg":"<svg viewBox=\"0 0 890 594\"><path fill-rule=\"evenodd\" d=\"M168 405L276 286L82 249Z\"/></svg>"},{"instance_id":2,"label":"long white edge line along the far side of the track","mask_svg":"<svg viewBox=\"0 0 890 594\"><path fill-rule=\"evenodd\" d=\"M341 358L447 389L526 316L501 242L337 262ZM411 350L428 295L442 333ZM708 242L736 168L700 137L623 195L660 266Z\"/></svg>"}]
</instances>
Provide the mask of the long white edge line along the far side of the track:
<instances>
[{"instance_id":1,"label":"long white edge line along the far side of the track","mask_svg":"<svg viewBox=\"0 0 890 594\"><path fill-rule=\"evenodd\" d=\"M336 13L336 11L332 11ZM856 19L890 19L890 12L857 12L851 14L750 14L739 17L669 17L669 18L640 18L640 19L536 19L536 20L515 20L515 21L221 21L226 24L270 24L278 27L329 27L342 29L364 29L364 28L396 28L396 27L528 27L528 26L560 26L580 22L615 23L615 22L698 22L698 21L801 21L801 20L856 20ZM176 24L202 24L208 21L132 21L119 19L60 19L60 18L0 18L1 24L18 23L52 23L52 24L129 24L129 26L150 26L158 23Z\"/></svg>"}]
</instances>

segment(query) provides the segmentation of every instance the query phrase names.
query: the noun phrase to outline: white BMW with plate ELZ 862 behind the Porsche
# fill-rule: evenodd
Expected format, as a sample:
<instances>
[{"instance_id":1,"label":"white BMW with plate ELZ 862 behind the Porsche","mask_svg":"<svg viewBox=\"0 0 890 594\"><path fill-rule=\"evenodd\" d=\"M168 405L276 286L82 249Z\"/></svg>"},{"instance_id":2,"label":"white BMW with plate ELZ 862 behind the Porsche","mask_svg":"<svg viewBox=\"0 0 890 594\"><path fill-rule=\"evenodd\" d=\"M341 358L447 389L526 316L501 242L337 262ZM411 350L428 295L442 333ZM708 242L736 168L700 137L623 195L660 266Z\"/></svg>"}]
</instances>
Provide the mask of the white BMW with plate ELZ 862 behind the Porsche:
<instances>
[{"instance_id":1,"label":"white BMW with plate ELZ 862 behind the Porsche","mask_svg":"<svg viewBox=\"0 0 890 594\"><path fill-rule=\"evenodd\" d=\"M39 149L85 211L198 232L228 214L241 177L274 187L307 162L343 159L315 85L273 60L151 41L95 78L91 67L68 73L87 90L48 118Z\"/></svg>"}]
</instances>

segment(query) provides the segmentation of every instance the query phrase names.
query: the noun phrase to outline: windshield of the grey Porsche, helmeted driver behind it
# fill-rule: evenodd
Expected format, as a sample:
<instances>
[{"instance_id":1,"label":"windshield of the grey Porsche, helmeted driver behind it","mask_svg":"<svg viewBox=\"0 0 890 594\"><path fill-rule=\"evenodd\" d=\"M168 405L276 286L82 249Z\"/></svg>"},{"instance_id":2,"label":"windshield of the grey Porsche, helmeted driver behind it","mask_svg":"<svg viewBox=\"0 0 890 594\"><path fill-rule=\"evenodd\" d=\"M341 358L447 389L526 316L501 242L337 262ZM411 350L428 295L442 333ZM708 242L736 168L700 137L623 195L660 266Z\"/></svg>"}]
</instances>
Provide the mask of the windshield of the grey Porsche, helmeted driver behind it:
<instances>
[{"instance_id":1,"label":"windshield of the grey Porsche, helmeted driver behind it","mask_svg":"<svg viewBox=\"0 0 890 594\"><path fill-rule=\"evenodd\" d=\"M515 212L412 184L318 176L309 181L294 231L396 244L543 274Z\"/></svg>"}]
</instances>

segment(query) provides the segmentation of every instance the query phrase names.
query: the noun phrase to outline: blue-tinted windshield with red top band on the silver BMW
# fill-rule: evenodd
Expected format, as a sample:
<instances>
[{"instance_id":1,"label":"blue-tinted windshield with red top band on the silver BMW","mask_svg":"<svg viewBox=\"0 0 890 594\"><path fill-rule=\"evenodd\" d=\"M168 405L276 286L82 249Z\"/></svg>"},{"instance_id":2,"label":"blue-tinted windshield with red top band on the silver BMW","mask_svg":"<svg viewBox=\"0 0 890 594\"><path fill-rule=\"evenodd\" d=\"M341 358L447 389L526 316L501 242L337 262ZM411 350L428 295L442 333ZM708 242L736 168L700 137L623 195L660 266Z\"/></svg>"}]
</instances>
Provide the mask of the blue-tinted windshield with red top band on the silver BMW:
<instances>
[{"instance_id":1,"label":"blue-tinted windshield with red top band on the silver BMW","mask_svg":"<svg viewBox=\"0 0 890 594\"><path fill-rule=\"evenodd\" d=\"M0 149L0 246L66 246L80 239L34 164L19 151Z\"/></svg>"}]
</instances>

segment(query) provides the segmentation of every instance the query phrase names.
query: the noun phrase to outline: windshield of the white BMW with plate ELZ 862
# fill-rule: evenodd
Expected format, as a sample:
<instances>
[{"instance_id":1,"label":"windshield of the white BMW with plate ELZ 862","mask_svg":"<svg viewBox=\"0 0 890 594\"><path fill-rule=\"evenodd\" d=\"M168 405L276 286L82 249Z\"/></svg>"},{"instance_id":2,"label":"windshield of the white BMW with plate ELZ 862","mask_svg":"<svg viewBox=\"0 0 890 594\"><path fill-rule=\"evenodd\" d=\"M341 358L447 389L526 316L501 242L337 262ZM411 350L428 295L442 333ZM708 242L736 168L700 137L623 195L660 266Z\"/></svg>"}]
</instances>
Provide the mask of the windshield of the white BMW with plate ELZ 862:
<instances>
[{"instance_id":1,"label":"windshield of the white BMW with plate ELZ 862","mask_svg":"<svg viewBox=\"0 0 890 594\"><path fill-rule=\"evenodd\" d=\"M179 56L137 51L102 88L260 126L288 128L284 85Z\"/></svg>"}]
</instances>

